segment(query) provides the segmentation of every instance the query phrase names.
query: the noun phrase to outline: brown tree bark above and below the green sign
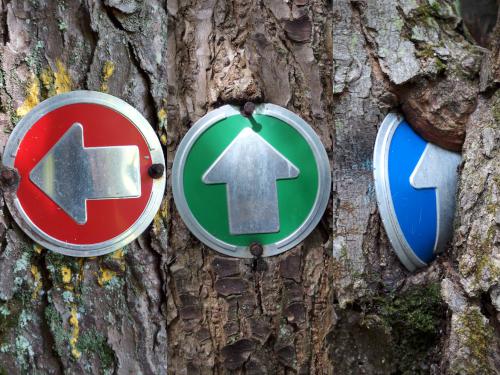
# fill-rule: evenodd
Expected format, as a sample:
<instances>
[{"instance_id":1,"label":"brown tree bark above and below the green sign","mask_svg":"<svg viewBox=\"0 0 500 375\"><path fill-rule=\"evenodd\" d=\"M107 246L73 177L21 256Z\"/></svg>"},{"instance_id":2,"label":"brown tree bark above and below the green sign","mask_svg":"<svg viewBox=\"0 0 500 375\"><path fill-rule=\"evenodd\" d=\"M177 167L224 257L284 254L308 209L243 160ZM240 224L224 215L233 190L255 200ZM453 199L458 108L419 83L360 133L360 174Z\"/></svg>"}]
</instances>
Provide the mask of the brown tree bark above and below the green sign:
<instances>
[{"instance_id":1,"label":"brown tree bark above and below the green sign","mask_svg":"<svg viewBox=\"0 0 500 375\"><path fill-rule=\"evenodd\" d=\"M331 154L327 2L183 0L169 2L168 10L169 163L202 115L247 100L295 111ZM331 373L330 210L302 245L257 263L207 249L189 234L173 204L170 213L172 374Z\"/></svg>"}]
</instances>

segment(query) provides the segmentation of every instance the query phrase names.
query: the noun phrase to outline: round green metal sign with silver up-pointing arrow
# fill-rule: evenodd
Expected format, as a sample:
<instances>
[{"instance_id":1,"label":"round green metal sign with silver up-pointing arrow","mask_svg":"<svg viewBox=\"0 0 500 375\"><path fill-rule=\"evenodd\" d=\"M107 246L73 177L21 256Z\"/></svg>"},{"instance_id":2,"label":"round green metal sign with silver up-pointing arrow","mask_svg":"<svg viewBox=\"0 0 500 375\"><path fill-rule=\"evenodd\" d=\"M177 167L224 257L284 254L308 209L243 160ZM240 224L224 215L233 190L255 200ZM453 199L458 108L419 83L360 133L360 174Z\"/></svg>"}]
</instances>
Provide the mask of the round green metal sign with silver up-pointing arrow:
<instances>
[{"instance_id":1,"label":"round green metal sign with silver up-pointing arrow","mask_svg":"<svg viewBox=\"0 0 500 375\"><path fill-rule=\"evenodd\" d=\"M294 113L261 104L248 117L225 105L182 139L172 170L177 209L193 234L227 255L282 253L318 224L330 164L314 130Z\"/></svg>"}]
</instances>

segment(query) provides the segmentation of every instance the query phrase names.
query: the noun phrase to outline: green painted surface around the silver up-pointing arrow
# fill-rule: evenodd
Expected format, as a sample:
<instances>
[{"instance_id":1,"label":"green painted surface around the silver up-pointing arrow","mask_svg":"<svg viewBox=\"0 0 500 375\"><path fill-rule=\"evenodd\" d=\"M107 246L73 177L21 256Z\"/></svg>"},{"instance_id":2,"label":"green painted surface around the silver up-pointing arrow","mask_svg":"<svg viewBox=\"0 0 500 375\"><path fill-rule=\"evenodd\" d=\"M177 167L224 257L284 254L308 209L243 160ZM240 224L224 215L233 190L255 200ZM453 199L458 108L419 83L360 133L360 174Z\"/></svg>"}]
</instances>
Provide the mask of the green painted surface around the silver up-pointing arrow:
<instances>
[{"instance_id":1,"label":"green painted surface around the silver up-pointing arrow","mask_svg":"<svg viewBox=\"0 0 500 375\"><path fill-rule=\"evenodd\" d=\"M295 179L277 181L277 233L230 234L226 185L202 182L202 175L246 127L257 131L300 170ZM318 191L318 169L309 144L290 125L265 115L255 115L252 120L235 115L212 125L193 144L183 173L186 201L198 223L219 240L236 246L248 246L254 241L266 245L288 237L306 220Z\"/></svg>"}]
</instances>

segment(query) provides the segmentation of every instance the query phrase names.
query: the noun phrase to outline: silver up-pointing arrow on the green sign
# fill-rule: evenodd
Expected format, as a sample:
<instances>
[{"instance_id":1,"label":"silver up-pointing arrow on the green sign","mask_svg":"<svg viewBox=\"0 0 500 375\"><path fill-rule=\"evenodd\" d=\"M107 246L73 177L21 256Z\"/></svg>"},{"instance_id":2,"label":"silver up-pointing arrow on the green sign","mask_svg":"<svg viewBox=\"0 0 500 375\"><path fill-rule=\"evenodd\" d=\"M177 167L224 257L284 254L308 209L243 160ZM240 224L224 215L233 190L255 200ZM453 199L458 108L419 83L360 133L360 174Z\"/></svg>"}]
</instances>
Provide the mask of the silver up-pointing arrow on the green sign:
<instances>
[{"instance_id":1,"label":"silver up-pointing arrow on the green sign","mask_svg":"<svg viewBox=\"0 0 500 375\"><path fill-rule=\"evenodd\" d=\"M231 234L280 229L276 180L299 169L250 128L243 129L208 168L206 184L226 184Z\"/></svg>"}]
</instances>

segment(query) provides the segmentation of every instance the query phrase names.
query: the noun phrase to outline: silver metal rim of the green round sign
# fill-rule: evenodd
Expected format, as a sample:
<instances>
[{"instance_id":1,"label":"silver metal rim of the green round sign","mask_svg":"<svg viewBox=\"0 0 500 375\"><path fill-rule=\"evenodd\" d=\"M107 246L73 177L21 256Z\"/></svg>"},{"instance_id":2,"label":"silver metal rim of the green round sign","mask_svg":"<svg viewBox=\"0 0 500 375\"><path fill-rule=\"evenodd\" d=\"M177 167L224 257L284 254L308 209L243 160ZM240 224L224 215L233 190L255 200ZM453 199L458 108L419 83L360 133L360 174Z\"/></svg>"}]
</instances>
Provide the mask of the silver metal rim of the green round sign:
<instances>
[{"instance_id":1,"label":"silver metal rim of the green round sign","mask_svg":"<svg viewBox=\"0 0 500 375\"><path fill-rule=\"evenodd\" d=\"M258 115L275 117L293 127L304 137L313 152L318 168L318 191L313 207L304 222L288 237L273 244L263 245L262 256L273 256L291 249L304 240L321 220L328 204L331 190L330 162L321 140L303 119L289 110L274 104L259 104L253 112ZM230 116L241 115L238 107L224 105L199 119L182 139L177 149L172 167L172 192L181 218L189 230L210 248L233 257L252 258L248 247L236 246L221 241L206 231L192 214L184 195L184 166L196 140L212 125Z\"/></svg>"}]
</instances>

